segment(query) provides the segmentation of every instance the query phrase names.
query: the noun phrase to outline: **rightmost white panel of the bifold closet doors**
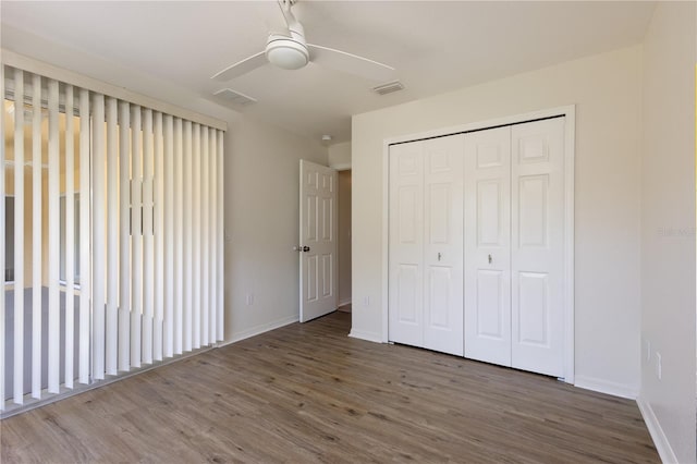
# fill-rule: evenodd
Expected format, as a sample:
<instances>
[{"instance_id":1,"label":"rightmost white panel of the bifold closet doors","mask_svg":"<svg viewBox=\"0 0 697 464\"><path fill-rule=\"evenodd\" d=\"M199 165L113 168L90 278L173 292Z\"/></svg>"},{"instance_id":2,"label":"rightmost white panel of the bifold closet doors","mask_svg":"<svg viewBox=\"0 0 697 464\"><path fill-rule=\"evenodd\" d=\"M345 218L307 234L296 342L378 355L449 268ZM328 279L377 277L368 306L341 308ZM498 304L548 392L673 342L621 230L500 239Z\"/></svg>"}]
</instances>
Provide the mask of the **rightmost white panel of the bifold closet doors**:
<instances>
[{"instance_id":1,"label":"rightmost white panel of the bifold closet doors","mask_svg":"<svg viewBox=\"0 0 697 464\"><path fill-rule=\"evenodd\" d=\"M512 138L512 366L564 376L564 119Z\"/></svg>"}]
</instances>

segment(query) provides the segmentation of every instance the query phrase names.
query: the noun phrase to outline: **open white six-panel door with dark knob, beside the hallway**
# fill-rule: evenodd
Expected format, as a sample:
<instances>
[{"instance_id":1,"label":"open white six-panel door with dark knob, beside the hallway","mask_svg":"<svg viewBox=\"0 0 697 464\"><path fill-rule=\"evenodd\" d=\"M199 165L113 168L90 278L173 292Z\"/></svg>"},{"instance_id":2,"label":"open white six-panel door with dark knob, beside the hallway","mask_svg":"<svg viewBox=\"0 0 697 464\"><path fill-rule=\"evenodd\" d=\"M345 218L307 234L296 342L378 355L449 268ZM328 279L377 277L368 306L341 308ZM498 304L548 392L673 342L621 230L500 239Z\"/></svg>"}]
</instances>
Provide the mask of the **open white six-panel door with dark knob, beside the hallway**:
<instances>
[{"instance_id":1,"label":"open white six-panel door with dark knob, beside the hallway","mask_svg":"<svg viewBox=\"0 0 697 464\"><path fill-rule=\"evenodd\" d=\"M301 322L337 309L337 171L301 160Z\"/></svg>"}]
</instances>

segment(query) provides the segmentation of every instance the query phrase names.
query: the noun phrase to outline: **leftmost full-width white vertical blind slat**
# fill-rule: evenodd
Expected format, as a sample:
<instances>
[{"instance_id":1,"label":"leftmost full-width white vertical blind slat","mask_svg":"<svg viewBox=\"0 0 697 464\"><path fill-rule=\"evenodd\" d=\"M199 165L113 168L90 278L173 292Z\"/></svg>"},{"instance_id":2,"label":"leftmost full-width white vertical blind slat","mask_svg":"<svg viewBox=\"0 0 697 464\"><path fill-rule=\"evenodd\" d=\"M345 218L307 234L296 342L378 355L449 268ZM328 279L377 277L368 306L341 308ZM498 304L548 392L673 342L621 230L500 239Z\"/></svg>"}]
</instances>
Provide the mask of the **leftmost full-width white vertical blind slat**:
<instances>
[{"instance_id":1,"label":"leftmost full-width white vertical blind slat","mask_svg":"<svg viewBox=\"0 0 697 464\"><path fill-rule=\"evenodd\" d=\"M24 72L14 70L14 402L24 402Z\"/></svg>"}]
</instances>

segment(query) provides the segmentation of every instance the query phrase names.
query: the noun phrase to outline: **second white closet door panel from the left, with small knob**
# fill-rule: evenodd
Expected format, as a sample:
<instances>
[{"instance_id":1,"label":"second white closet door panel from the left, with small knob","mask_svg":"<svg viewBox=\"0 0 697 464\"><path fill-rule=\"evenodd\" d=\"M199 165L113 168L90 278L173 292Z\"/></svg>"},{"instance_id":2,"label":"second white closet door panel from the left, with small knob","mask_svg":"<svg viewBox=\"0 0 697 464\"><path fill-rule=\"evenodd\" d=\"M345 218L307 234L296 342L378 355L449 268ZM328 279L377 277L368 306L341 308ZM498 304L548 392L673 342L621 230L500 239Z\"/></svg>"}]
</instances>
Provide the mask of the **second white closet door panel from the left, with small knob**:
<instances>
[{"instance_id":1,"label":"second white closet door panel from the left, with small knob","mask_svg":"<svg viewBox=\"0 0 697 464\"><path fill-rule=\"evenodd\" d=\"M463 135L424 144L424 347L463 355Z\"/></svg>"}]
</instances>

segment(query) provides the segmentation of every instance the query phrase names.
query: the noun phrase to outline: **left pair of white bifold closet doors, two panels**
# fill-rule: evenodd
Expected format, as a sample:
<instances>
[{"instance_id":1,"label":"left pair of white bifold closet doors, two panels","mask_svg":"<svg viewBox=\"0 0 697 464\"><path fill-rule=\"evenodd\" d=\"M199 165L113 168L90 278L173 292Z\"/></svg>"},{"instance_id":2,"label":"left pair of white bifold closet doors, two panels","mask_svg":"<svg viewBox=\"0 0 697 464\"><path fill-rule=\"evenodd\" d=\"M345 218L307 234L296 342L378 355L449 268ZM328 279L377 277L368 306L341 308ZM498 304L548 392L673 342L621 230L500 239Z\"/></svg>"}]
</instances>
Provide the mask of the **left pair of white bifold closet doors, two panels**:
<instances>
[{"instance_id":1,"label":"left pair of white bifold closet doors, two panels","mask_svg":"<svg viewBox=\"0 0 697 464\"><path fill-rule=\"evenodd\" d=\"M390 147L391 341L463 354L463 136Z\"/></svg>"}]
</instances>

